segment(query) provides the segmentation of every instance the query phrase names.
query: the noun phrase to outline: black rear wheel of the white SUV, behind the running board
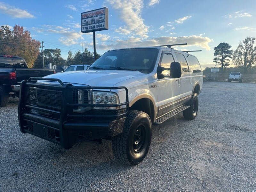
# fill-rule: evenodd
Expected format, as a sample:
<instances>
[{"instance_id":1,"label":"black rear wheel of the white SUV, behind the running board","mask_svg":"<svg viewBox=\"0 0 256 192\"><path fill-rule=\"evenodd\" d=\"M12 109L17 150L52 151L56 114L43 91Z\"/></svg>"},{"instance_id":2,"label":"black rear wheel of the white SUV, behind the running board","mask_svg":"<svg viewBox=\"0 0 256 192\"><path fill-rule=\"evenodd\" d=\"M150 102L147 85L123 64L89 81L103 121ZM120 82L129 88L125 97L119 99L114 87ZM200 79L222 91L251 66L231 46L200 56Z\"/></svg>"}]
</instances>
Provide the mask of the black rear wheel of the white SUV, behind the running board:
<instances>
[{"instance_id":1,"label":"black rear wheel of the white SUV, behind the running board","mask_svg":"<svg viewBox=\"0 0 256 192\"><path fill-rule=\"evenodd\" d=\"M195 119L198 111L198 95L197 93L193 94L193 97L191 98L189 102L190 107L183 111L183 116L185 119Z\"/></svg>"}]
</instances>

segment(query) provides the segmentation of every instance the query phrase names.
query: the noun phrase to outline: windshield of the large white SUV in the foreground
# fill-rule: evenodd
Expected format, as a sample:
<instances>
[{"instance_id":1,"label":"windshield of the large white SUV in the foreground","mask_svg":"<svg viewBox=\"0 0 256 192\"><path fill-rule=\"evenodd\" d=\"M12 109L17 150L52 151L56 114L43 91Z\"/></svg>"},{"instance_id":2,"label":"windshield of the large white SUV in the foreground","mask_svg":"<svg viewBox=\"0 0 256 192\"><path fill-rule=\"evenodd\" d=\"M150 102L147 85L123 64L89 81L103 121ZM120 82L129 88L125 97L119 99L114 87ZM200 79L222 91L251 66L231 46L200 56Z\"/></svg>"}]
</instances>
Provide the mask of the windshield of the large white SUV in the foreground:
<instances>
[{"instance_id":1,"label":"windshield of the large white SUV in the foreground","mask_svg":"<svg viewBox=\"0 0 256 192\"><path fill-rule=\"evenodd\" d=\"M150 73L156 63L158 49L138 48L108 51L96 60L90 68L137 70Z\"/></svg>"}]
</instances>

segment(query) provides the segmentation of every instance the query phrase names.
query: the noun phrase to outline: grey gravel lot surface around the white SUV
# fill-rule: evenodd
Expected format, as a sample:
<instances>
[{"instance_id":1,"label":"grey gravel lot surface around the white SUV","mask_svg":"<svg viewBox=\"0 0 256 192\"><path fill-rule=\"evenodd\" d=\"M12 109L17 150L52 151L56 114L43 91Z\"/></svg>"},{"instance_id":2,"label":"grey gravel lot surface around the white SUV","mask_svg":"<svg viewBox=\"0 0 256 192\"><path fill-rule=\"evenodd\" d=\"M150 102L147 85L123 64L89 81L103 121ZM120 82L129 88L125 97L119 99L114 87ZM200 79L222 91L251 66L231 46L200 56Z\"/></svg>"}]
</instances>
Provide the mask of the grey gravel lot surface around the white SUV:
<instances>
[{"instance_id":1,"label":"grey gravel lot surface around the white SUV","mask_svg":"<svg viewBox=\"0 0 256 192\"><path fill-rule=\"evenodd\" d=\"M256 84L205 82L195 120L153 126L148 156L118 163L111 142L65 150L19 130L0 108L0 191L256 191Z\"/></svg>"}]
</instances>

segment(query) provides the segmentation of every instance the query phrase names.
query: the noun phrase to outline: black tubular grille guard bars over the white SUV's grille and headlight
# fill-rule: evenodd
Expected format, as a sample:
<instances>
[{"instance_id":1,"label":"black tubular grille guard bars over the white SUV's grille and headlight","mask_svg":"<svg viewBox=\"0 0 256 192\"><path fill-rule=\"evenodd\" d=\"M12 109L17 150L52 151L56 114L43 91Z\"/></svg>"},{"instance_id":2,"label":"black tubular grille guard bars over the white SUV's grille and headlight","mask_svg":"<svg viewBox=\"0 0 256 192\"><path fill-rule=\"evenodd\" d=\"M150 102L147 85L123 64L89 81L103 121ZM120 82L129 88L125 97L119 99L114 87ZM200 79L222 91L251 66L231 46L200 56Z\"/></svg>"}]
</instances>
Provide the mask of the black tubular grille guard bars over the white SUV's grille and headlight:
<instances>
[{"instance_id":1,"label":"black tubular grille guard bars over the white SUV's grille and headlight","mask_svg":"<svg viewBox=\"0 0 256 192\"><path fill-rule=\"evenodd\" d=\"M59 84L52 85L52 84L41 84L36 82L37 80L43 80L43 81L52 81L52 82L58 82ZM38 87L38 88L56 88L61 90L61 108L60 111L43 108L43 107L37 107L33 105L28 105L24 99L25 99L25 90L26 87ZM119 103L119 104L72 104L73 100L73 89L89 89L89 90L116 90L116 89L124 89L125 95L126 95L126 102ZM115 114L115 115L86 115L86 114L78 114L78 115L69 115L72 114L73 107L121 107L126 106L124 113L121 114ZM128 89L124 86L120 87L97 87L97 86L73 86L72 84L64 84L60 81L60 79L54 79L54 78L37 78L37 77L31 77L28 80L23 80L20 84L20 101L19 101L19 123L20 123L20 131L25 133L27 131L24 130L24 128L27 126L24 124L25 121L32 121L35 123L42 123L42 122L36 122L31 119L26 119L23 117L24 113L29 113L30 109L35 109L38 111L42 111L45 113L55 114L59 115L60 119L58 123L54 123L51 127L58 128L60 130L60 135L64 134L62 133L62 127L63 124L67 121L68 117L119 117L124 116L128 113L129 110L129 99L128 99ZM25 120L25 121L24 121ZM55 120L56 122L56 120ZM44 123L43 123L44 124ZM48 126L48 125L47 125Z\"/></svg>"}]
</instances>

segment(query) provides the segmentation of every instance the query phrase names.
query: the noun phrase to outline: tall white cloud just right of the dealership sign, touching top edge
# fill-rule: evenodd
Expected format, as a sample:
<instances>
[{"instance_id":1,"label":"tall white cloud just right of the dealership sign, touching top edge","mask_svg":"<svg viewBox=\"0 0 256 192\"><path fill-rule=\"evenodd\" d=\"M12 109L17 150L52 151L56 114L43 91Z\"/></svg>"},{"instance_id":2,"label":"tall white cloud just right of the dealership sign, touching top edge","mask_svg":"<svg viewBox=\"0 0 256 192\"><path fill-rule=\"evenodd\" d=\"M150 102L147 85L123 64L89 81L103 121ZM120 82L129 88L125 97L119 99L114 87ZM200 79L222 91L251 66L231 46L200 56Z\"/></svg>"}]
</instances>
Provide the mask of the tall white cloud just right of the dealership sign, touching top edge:
<instances>
[{"instance_id":1,"label":"tall white cloud just right of the dealership sign, touching top edge","mask_svg":"<svg viewBox=\"0 0 256 192\"><path fill-rule=\"evenodd\" d=\"M149 27L144 24L140 15L143 8L142 0L107 0L106 2L119 12L120 18L125 23L125 26L119 27L116 32L134 33L142 38L148 37Z\"/></svg>"}]
</instances>

